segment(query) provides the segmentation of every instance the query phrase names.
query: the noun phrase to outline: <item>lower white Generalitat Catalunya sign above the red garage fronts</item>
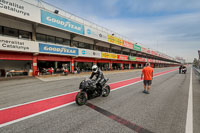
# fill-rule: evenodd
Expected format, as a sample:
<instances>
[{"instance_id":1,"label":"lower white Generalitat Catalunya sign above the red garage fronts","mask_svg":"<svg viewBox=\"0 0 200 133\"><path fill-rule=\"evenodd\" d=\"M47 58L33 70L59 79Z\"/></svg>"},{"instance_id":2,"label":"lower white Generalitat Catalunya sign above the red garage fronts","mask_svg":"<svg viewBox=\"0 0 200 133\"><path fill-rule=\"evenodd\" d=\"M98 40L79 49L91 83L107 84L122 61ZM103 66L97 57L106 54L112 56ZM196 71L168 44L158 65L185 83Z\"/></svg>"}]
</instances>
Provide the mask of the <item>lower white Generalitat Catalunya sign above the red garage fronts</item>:
<instances>
[{"instance_id":1,"label":"lower white Generalitat Catalunya sign above the red garage fronts","mask_svg":"<svg viewBox=\"0 0 200 133\"><path fill-rule=\"evenodd\" d=\"M38 43L17 38L0 36L0 50L39 52Z\"/></svg>"}]
</instances>

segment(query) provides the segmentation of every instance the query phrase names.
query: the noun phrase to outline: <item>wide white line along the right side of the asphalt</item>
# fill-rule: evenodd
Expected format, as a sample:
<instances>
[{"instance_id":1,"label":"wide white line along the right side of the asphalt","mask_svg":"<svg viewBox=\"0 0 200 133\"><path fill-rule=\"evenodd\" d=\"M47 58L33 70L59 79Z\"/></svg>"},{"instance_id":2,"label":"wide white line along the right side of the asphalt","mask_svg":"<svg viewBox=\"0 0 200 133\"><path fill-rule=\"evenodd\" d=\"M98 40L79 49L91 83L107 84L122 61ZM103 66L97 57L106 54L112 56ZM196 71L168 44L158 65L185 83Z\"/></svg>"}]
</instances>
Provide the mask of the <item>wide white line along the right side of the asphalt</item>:
<instances>
[{"instance_id":1,"label":"wide white line along the right side of the asphalt","mask_svg":"<svg viewBox=\"0 0 200 133\"><path fill-rule=\"evenodd\" d=\"M185 133L193 133L193 95L192 93L193 91L192 91L192 68L191 68Z\"/></svg>"}]
</instances>

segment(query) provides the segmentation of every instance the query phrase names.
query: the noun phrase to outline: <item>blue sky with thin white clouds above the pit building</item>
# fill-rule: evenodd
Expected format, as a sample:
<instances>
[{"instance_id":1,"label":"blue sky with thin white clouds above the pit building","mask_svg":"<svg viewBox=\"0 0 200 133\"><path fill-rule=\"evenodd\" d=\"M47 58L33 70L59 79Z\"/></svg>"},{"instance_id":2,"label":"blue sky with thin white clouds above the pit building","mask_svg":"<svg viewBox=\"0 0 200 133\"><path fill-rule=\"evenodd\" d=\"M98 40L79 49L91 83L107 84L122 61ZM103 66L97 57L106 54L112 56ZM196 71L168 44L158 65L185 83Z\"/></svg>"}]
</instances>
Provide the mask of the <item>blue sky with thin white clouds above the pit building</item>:
<instances>
[{"instance_id":1,"label":"blue sky with thin white clouds above the pit building","mask_svg":"<svg viewBox=\"0 0 200 133\"><path fill-rule=\"evenodd\" d=\"M200 0L43 0L147 48L191 62L200 50Z\"/></svg>"}]
</instances>

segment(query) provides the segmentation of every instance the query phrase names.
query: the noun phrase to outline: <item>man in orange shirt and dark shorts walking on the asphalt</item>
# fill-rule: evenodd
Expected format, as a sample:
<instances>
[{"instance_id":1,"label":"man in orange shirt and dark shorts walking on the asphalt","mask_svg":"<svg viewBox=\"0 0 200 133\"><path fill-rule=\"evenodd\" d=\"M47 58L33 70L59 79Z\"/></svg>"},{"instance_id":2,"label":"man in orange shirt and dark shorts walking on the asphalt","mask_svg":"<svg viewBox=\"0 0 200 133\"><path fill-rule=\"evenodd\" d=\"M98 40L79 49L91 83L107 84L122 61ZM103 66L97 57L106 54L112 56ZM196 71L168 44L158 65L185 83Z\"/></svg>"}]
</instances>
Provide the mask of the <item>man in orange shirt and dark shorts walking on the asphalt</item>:
<instances>
[{"instance_id":1,"label":"man in orange shirt and dark shorts walking on the asphalt","mask_svg":"<svg viewBox=\"0 0 200 133\"><path fill-rule=\"evenodd\" d=\"M150 63L146 63L146 67L143 68L141 79L143 79L144 76L144 93L149 94L149 90L151 88L152 79L153 79L153 68L150 67Z\"/></svg>"}]
</instances>

